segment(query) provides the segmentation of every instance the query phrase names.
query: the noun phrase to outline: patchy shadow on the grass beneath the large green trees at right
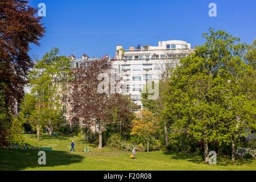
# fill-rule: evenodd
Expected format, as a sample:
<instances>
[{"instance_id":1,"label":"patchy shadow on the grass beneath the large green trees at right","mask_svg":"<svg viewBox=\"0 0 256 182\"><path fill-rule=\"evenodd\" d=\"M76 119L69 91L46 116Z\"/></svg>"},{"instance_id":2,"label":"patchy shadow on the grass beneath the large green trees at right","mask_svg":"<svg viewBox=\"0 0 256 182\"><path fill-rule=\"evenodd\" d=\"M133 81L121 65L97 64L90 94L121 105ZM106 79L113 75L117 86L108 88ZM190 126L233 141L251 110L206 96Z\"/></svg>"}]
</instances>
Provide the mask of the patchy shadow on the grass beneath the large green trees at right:
<instances>
[{"instance_id":1,"label":"patchy shadow on the grass beneath the large green trees at right","mask_svg":"<svg viewBox=\"0 0 256 182\"><path fill-rule=\"evenodd\" d=\"M204 164L204 155L192 154L189 152L164 152L165 155L170 155L171 159L187 160L196 164ZM250 159L237 159L235 162L229 157L217 156L217 166L241 166L243 164L253 163Z\"/></svg>"}]
</instances>

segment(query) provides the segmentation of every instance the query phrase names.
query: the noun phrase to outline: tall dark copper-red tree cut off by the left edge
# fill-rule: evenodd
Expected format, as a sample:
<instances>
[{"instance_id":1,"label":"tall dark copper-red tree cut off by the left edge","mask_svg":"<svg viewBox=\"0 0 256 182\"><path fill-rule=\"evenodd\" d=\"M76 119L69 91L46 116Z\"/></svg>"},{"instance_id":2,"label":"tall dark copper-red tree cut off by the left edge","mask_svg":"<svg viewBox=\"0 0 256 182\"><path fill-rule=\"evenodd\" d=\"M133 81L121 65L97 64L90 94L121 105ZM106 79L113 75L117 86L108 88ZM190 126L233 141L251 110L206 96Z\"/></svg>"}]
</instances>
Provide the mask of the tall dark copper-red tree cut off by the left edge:
<instances>
[{"instance_id":1,"label":"tall dark copper-red tree cut off by the left edge","mask_svg":"<svg viewBox=\"0 0 256 182\"><path fill-rule=\"evenodd\" d=\"M37 10L24 0L0 2L0 90L3 98L1 129L7 137L14 122L11 115L17 112L17 102L23 97L28 69L32 61L28 56L30 44L39 44L44 28ZM3 123L5 122L5 123ZM4 125L4 126L3 126ZM3 137L3 138L6 138ZM7 139L7 138L6 138ZM6 142L1 141L1 144Z\"/></svg>"}]
</instances>

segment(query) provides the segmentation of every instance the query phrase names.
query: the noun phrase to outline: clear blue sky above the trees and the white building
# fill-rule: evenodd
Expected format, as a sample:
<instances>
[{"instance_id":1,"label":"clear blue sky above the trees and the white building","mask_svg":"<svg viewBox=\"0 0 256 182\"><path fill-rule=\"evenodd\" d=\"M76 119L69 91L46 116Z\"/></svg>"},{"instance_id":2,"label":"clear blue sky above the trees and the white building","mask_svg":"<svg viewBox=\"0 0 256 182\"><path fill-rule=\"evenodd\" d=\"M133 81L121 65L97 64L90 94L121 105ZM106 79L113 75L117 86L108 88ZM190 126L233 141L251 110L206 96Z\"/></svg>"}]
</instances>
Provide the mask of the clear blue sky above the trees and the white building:
<instances>
[{"instance_id":1,"label":"clear blue sky above the trees and the white building","mask_svg":"<svg viewBox=\"0 0 256 182\"><path fill-rule=\"evenodd\" d=\"M114 56L115 46L157 45L158 40L204 43L209 27L251 43L256 38L256 0L30 0L46 4L46 34L30 55L42 57L52 47L61 55ZM217 17L208 5L217 4Z\"/></svg>"}]
</instances>

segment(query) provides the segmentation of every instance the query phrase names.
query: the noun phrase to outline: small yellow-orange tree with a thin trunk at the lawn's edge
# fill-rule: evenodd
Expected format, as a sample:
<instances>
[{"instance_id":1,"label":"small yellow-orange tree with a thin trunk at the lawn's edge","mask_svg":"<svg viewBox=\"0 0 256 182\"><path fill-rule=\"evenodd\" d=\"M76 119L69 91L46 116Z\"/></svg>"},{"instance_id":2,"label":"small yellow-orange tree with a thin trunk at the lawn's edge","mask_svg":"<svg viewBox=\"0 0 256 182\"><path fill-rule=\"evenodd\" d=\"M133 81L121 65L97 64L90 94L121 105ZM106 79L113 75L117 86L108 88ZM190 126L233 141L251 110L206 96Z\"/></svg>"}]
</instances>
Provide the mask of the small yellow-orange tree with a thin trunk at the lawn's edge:
<instances>
[{"instance_id":1,"label":"small yellow-orange tree with a thin trunk at the lawn's edge","mask_svg":"<svg viewBox=\"0 0 256 182\"><path fill-rule=\"evenodd\" d=\"M150 138L154 137L159 131L160 123L158 118L156 118L149 110L141 110L132 123L133 129L131 130L131 135L139 135L143 137L147 141L148 152Z\"/></svg>"}]
</instances>

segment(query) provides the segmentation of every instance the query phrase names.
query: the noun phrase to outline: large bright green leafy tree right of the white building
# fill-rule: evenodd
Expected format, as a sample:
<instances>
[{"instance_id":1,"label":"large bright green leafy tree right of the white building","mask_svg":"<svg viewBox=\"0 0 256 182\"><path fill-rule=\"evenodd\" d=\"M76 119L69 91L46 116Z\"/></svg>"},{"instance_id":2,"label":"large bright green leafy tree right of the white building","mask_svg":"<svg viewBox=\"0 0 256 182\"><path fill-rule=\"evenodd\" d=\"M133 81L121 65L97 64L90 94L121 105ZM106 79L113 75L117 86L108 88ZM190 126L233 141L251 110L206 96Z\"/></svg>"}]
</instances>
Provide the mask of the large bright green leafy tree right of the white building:
<instances>
[{"instance_id":1,"label":"large bright green leafy tree right of the white building","mask_svg":"<svg viewBox=\"0 0 256 182\"><path fill-rule=\"evenodd\" d=\"M243 117L249 110L241 105L252 104L252 100L245 97L248 87L242 88L246 83L246 69L250 69L243 60L245 44L211 28L204 38L207 42L181 59L181 65L169 79L164 113L174 121L174 131L203 141L205 163L208 163L209 142L232 143L234 156L234 140L249 121Z\"/></svg>"}]
</instances>

